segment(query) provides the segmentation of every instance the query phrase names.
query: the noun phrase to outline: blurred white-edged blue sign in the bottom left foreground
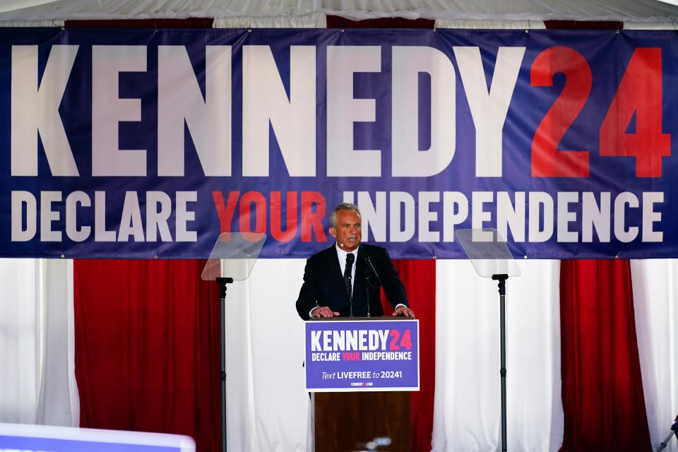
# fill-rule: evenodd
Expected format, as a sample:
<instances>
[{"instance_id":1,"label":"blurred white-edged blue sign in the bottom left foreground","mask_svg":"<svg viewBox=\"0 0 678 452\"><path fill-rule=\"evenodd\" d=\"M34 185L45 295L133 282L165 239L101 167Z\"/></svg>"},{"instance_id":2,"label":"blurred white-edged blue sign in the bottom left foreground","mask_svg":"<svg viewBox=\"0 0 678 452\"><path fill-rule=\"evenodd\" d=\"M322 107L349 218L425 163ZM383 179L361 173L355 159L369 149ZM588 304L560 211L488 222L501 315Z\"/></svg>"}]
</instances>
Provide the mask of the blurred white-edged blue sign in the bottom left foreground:
<instances>
[{"instance_id":1,"label":"blurred white-edged blue sign in the bottom left foreground","mask_svg":"<svg viewBox=\"0 0 678 452\"><path fill-rule=\"evenodd\" d=\"M195 452L189 436L0 424L0 451L22 452Z\"/></svg>"}]
</instances>

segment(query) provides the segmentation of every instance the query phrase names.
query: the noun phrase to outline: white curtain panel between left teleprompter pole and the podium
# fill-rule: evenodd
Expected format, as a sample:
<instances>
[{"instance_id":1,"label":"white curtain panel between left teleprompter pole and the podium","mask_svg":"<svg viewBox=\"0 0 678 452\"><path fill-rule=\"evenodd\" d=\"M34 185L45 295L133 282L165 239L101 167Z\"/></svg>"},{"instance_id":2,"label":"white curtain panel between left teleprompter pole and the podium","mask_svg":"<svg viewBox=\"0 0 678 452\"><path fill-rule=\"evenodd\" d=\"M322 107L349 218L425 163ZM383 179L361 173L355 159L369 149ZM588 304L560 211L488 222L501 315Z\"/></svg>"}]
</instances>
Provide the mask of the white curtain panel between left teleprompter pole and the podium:
<instances>
[{"instance_id":1,"label":"white curtain panel between left teleprompter pole and the podium","mask_svg":"<svg viewBox=\"0 0 678 452\"><path fill-rule=\"evenodd\" d=\"M227 442L230 451L307 449L304 323L295 301L305 259L259 259L226 295Z\"/></svg>"}]
</instances>

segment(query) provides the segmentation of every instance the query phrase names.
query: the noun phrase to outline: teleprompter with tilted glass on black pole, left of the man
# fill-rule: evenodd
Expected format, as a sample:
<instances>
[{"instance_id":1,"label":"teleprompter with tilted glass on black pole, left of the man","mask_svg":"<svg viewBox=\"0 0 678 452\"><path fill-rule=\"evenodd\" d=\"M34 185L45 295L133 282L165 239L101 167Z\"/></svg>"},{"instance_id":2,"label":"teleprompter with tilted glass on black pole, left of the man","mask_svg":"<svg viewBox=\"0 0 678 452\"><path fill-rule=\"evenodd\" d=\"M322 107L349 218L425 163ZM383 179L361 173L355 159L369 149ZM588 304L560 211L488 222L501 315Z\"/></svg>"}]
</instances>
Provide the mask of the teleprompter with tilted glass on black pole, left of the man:
<instances>
[{"instance_id":1,"label":"teleprompter with tilted glass on black pole, left of the man","mask_svg":"<svg viewBox=\"0 0 678 452\"><path fill-rule=\"evenodd\" d=\"M202 280L219 285L220 312L220 362L221 370L221 448L226 452L226 288L234 281L249 278L256 258L261 251L266 234L224 232L214 244L210 258L203 268Z\"/></svg>"}]
</instances>

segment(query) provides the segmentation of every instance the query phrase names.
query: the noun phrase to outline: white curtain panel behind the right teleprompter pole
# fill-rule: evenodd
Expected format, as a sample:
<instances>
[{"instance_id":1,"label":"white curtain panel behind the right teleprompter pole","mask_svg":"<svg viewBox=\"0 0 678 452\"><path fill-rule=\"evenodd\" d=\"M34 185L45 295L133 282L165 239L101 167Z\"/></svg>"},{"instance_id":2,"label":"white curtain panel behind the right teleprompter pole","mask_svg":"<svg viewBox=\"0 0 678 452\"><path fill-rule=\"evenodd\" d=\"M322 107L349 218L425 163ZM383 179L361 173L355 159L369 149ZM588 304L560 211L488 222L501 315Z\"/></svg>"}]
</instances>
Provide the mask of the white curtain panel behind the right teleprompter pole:
<instances>
[{"instance_id":1,"label":"white curtain panel behind the right teleprompter pole","mask_svg":"<svg viewBox=\"0 0 678 452\"><path fill-rule=\"evenodd\" d=\"M519 261L506 284L510 451L558 451L561 403L559 261ZM468 261L436 263L433 450L499 451L499 293Z\"/></svg>"}]
</instances>

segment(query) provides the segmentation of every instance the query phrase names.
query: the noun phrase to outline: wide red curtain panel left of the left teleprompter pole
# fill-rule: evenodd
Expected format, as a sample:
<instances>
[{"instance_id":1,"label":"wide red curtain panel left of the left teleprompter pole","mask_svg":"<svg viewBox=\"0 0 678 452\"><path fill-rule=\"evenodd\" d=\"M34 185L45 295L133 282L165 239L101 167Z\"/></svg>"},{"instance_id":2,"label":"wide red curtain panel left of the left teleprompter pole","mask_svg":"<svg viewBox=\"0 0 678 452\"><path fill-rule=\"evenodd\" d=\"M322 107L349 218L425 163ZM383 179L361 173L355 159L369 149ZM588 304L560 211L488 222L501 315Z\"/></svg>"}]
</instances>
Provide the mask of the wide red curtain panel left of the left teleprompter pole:
<instances>
[{"instance_id":1,"label":"wide red curtain panel left of the left teleprompter pole","mask_svg":"<svg viewBox=\"0 0 678 452\"><path fill-rule=\"evenodd\" d=\"M81 427L221 448L219 295L203 261L74 263Z\"/></svg>"}]
</instances>

